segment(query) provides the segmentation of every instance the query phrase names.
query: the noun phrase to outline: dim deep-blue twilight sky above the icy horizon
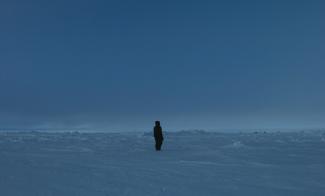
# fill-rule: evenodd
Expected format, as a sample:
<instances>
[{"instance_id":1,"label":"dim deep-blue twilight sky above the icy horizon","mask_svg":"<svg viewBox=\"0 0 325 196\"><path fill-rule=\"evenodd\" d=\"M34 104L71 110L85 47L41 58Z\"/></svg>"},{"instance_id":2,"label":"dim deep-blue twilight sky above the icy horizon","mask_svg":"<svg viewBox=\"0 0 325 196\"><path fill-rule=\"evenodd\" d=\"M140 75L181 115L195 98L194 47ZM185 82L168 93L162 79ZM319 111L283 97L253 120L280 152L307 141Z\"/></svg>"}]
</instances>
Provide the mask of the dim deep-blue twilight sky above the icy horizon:
<instances>
[{"instance_id":1,"label":"dim deep-blue twilight sky above the icy horizon","mask_svg":"<svg viewBox=\"0 0 325 196\"><path fill-rule=\"evenodd\" d=\"M0 1L0 128L325 127L324 1Z\"/></svg>"}]
</instances>

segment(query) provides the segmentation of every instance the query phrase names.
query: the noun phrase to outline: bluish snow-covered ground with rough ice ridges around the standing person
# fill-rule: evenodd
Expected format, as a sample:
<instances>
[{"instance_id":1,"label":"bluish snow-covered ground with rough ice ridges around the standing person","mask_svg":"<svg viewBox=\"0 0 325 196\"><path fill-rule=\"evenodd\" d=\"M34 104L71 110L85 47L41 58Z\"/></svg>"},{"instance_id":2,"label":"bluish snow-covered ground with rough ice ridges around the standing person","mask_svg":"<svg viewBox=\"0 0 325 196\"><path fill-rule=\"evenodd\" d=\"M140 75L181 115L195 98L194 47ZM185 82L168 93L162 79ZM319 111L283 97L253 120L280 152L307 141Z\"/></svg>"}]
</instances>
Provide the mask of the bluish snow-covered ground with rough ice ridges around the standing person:
<instances>
[{"instance_id":1,"label":"bluish snow-covered ground with rough ice ridges around the standing person","mask_svg":"<svg viewBox=\"0 0 325 196\"><path fill-rule=\"evenodd\" d=\"M1 196L324 196L325 132L0 132Z\"/></svg>"}]
</instances>

